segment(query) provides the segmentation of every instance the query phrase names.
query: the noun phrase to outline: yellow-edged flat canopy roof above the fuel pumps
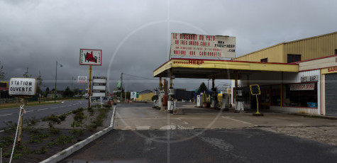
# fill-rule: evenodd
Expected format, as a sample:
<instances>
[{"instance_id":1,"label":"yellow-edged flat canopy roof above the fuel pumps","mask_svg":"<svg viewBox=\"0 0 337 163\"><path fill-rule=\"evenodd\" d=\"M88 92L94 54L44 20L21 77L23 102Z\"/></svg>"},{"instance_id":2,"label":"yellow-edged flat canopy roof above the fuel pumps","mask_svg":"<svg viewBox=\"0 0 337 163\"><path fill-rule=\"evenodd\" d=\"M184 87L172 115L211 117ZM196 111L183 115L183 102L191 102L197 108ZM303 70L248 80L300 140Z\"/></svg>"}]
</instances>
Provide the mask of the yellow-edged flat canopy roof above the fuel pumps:
<instances>
[{"instance_id":1,"label":"yellow-edged flat canopy roof above the fuel pumps","mask_svg":"<svg viewBox=\"0 0 337 163\"><path fill-rule=\"evenodd\" d=\"M175 78L194 79L236 79L236 73L299 72L295 63L171 58L153 71L153 77L170 77L171 68Z\"/></svg>"}]
</instances>

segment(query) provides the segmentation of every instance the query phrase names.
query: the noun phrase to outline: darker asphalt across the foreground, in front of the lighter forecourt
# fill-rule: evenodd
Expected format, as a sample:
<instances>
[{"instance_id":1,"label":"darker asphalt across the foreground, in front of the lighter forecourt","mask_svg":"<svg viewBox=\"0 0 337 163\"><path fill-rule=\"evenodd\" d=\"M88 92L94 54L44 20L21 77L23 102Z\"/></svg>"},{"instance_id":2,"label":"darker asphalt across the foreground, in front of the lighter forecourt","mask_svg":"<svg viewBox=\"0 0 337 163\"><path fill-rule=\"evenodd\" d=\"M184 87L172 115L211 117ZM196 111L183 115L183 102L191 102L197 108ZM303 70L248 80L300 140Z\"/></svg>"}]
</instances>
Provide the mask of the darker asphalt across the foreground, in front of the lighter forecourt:
<instances>
[{"instance_id":1,"label":"darker asphalt across the foreground, in front of the lighter forecourt","mask_svg":"<svg viewBox=\"0 0 337 163\"><path fill-rule=\"evenodd\" d=\"M336 162L337 147L265 130L113 130L62 163Z\"/></svg>"}]
</instances>

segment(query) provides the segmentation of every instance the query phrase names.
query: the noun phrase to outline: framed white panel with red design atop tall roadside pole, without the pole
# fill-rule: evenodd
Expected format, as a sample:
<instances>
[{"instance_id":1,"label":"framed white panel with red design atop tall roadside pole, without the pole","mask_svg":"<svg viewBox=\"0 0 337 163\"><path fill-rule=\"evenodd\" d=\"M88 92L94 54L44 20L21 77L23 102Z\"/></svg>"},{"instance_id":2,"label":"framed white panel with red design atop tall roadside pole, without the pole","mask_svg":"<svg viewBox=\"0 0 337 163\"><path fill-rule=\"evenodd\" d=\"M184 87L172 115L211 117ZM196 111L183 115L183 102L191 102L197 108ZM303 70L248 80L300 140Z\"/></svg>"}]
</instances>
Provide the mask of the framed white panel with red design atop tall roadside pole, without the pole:
<instances>
[{"instance_id":1,"label":"framed white panel with red design atop tall roadside pole, without the pole","mask_svg":"<svg viewBox=\"0 0 337 163\"><path fill-rule=\"evenodd\" d=\"M79 64L101 66L101 50L80 49Z\"/></svg>"}]
</instances>

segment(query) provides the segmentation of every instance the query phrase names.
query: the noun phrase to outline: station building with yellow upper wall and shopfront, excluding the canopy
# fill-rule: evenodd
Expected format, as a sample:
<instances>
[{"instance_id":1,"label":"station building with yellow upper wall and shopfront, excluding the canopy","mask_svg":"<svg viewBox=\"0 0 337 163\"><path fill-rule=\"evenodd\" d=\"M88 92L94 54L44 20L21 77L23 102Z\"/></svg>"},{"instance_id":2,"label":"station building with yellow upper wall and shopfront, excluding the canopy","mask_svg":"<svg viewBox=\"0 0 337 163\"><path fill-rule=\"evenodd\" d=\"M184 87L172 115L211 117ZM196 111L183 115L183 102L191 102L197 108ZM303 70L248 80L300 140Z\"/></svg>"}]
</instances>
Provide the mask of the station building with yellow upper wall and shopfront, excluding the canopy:
<instances>
[{"instance_id":1,"label":"station building with yellow upper wall and shopfront, excluding the canopy","mask_svg":"<svg viewBox=\"0 0 337 163\"><path fill-rule=\"evenodd\" d=\"M337 116L337 32L273 45L236 61L298 65L297 72L241 74L245 108L256 105L249 85L260 84L260 108Z\"/></svg>"}]
</instances>

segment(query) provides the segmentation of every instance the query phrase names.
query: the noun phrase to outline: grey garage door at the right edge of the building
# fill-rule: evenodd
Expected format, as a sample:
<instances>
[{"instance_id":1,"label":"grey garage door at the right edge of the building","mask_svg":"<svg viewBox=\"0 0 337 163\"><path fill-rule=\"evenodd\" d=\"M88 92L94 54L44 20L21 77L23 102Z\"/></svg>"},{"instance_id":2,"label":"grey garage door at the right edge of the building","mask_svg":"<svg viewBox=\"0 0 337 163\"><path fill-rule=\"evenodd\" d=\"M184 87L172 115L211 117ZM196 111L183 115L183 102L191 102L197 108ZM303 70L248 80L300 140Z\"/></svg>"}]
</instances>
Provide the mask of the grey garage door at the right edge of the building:
<instances>
[{"instance_id":1,"label":"grey garage door at the right edge of the building","mask_svg":"<svg viewBox=\"0 0 337 163\"><path fill-rule=\"evenodd\" d=\"M337 74L326 74L326 115L337 116Z\"/></svg>"}]
</instances>

